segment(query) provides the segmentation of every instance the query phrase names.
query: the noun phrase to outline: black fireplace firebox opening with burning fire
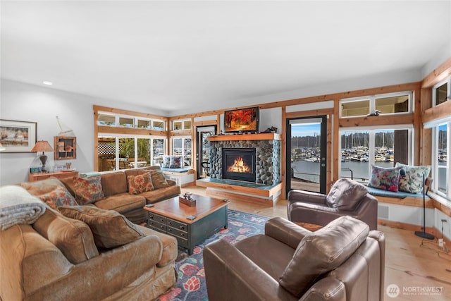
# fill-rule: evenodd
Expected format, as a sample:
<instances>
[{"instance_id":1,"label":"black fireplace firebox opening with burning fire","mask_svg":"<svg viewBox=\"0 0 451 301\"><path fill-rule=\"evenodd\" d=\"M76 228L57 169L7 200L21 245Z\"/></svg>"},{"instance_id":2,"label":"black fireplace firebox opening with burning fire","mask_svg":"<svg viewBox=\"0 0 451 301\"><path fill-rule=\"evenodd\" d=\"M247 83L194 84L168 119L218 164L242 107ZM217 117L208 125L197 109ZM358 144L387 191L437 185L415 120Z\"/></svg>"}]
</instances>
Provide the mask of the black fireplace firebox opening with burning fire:
<instances>
[{"instance_id":1,"label":"black fireplace firebox opening with burning fire","mask_svg":"<svg viewBox=\"0 0 451 301\"><path fill-rule=\"evenodd\" d=\"M255 182L255 149L223 149L223 179Z\"/></svg>"}]
</instances>

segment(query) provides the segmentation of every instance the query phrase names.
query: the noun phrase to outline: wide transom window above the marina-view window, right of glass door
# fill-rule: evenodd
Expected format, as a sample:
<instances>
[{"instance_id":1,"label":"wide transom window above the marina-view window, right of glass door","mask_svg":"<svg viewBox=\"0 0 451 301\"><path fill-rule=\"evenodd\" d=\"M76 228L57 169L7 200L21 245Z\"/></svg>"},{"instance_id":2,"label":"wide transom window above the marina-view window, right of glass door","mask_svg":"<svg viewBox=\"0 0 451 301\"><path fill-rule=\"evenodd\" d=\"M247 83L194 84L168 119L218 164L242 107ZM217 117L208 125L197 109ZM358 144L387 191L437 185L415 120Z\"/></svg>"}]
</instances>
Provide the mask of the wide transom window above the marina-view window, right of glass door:
<instances>
[{"instance_id":1,"label":"wide transom window above the marina-view window, right of glass door","mask_svg":"<svg viewBox=\"0 0 451 301\"><path fill-rule=\"evenodd\" d=\"M362 117L369 114L410 113L412 92L378 94L340 101L341 117Z\"/></svg>"}]
</instances>

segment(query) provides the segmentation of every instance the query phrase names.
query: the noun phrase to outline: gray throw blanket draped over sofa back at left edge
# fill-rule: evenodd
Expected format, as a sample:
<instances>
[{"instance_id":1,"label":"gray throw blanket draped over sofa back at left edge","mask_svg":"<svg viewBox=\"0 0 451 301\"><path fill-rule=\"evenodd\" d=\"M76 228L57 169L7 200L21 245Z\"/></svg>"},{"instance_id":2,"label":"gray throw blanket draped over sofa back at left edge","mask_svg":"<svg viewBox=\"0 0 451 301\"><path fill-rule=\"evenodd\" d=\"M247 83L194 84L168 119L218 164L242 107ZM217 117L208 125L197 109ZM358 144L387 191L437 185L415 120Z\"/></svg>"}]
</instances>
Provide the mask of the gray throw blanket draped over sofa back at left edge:
<instances>
[{"instance_id":1,"label":"gray throw blanket draped over sofa back at left edge","mask_svg":"<svg viewBox=\"0 0 451 301\"><path fill-rule=\"evenodd\" d=\"M0 229L6 230L18 223L35 223L44 214L46 205L25 188L6 185L0 188Z\"/></svg>"}]
</instances>

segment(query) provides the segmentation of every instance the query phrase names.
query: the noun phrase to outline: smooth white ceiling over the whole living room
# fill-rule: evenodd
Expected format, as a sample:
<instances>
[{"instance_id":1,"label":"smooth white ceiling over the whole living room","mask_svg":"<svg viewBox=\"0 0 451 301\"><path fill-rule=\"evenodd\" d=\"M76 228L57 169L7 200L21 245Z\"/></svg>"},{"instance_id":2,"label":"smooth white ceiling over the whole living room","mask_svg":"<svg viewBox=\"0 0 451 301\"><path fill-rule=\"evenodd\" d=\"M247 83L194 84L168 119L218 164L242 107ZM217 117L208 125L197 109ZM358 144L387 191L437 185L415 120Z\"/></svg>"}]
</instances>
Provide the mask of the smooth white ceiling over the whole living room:
<instances>
[{"instance_id":1,"label":"smooth white ceiling over the whole living room","mask_svg":"<svg viewBox=\"0 0 451 301\"><path fill-rule=\"evenodd\" d=\"M195 113L419 74L450 20L451 1L2 0L1 77Z\"/></svg>"}]
</instances>

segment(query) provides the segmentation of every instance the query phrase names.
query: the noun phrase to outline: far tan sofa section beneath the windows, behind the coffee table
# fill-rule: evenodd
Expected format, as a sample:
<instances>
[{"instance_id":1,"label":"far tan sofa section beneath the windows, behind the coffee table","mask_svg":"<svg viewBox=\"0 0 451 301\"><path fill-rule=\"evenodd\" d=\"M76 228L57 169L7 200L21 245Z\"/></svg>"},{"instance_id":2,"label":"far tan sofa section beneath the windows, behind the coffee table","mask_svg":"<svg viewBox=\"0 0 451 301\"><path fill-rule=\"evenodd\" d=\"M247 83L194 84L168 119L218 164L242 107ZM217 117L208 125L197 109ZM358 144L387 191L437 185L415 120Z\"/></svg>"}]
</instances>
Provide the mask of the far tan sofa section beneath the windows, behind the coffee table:
<instances>
[{"instance_id":1,"label":"far tan sofa section beneath the windows, behind the coffee table","mask_svg":"<svg viewBox=\"0 0 451 301\"><path fill-rule=\"evenodd\" d=\"M127 177L147 172L151 172L154 190L143 192L140 195L130 195ZM147 221L147 211L142 209L146 204L153 204L180 195L180 187L173 180L162 180L161 177L164 177L164 175L159 166L103 173L101 174L101 188L105 198L93 204L101 209L118 211L132 223L142 223ZM73 179L62 178L60 180L66 185L68 191L75 196ZM161 181L166 183L161 183Z\"/></svg>"}]
</instances>

